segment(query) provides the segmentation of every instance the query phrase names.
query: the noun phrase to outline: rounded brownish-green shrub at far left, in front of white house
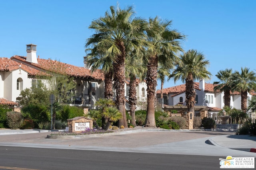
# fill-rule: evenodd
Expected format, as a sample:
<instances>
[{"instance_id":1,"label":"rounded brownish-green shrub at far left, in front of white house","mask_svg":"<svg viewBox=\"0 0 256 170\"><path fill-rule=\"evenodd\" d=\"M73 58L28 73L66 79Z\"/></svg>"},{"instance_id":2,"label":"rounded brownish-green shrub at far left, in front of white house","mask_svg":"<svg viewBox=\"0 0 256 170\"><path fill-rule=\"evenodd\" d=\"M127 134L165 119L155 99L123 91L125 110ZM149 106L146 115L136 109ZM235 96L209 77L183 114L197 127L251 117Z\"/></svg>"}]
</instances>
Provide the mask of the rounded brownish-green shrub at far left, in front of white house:
<instances>
[{"instance_id":1,"label":"rounded brownish-green shrub at far left, in front of white house","mask_svg":"<svg viewBox=\"0 0 256 170\"><path fill-rule=\"evenodd\" d=\"M22 125L22 113L17 111L8 111L6 113L7 125L10 129L18 129Z\"/></svg>"}]
</instances>

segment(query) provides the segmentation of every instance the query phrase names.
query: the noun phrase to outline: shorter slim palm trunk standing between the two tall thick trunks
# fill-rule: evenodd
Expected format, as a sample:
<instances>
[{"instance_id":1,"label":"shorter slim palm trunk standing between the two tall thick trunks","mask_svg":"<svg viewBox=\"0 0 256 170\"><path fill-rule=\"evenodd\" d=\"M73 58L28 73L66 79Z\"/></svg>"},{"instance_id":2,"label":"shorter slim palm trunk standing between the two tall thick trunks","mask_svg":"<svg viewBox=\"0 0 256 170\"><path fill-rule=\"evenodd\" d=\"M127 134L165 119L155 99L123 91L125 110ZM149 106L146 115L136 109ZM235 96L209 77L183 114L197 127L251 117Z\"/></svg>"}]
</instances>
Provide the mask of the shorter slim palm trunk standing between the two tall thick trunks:
<instances>
[{"instance_id":1,"label":"shorter slim palm trunk standing between the two tall thick trunks","mask_svg":"<svg viewBox=\"0 0 256 170\"><path fill-rule=\"evenodd\" d=\"M132 125L136 126L136 119L135 119L135 111L136 111L136 77L134 75L130 76L130 88L129 88L129 102L130 102L130 111L132 116Z\"/></svg>"}]
</instances>

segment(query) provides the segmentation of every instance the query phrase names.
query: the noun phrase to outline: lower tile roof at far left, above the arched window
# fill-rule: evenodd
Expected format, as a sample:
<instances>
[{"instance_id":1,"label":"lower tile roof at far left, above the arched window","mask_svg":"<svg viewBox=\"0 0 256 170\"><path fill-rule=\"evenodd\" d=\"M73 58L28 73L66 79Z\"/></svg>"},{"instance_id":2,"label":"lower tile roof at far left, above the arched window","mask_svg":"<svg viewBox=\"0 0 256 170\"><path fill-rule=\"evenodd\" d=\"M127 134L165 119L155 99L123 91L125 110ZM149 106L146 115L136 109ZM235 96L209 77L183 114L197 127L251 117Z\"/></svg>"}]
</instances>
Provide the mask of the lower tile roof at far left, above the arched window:
<instances>
[{"instance_id":1,"label":"lower tile roof at far left, above the arched window","mask_svg":"<svg viewBox=\"0 0 256 170\"><path fill-rule=\"evenodd\" d=\"M46 76L47 75L45 72L41 72L39 70L36 70L35 68L26 66L25 64L22 64L22 63L18 63L9 58L6 58L6 57L0 58L0 71L14 71L14 70L18 70L20 68L22 70L28 72L28 74L31 76L36 76L36 75Z\"/></svg>"}]
</instances>

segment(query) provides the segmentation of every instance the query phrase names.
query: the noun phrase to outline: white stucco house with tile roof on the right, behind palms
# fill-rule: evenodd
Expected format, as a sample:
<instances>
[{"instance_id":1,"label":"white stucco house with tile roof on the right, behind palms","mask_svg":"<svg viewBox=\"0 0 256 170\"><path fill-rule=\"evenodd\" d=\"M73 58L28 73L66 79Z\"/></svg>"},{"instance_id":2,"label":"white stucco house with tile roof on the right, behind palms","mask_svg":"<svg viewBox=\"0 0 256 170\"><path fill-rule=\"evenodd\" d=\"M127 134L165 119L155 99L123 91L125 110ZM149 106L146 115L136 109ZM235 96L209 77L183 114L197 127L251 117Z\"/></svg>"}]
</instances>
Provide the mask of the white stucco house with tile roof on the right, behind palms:
<instances>
[{"instance_id":1,"label":"white stucco house with tile roof on the right, behind palms","mask_svg":"<svg viewBox=\"0 0 256 170\"><path fill-rule=\"evenodd\" d=\"M206 111L207 117L216 119L217 113L224 107L224 92L214 92L214 84L205 83L204 79L200 82L194 82L196 90L195 115L200 111ZM163 99L160 100L160 90L157 90L156 96L158 101L162 101L162 107L166 110L177 109L179 106L186 106L185 84L164 88ZM248 100L255 96L255 92L248 93ZM241 96L239 92L231 94L230 106L232 108L241 109ZM184 110L186 107L180 107ZM250 113L248 113L250 114Z\"/></svg>"}]
</instances>

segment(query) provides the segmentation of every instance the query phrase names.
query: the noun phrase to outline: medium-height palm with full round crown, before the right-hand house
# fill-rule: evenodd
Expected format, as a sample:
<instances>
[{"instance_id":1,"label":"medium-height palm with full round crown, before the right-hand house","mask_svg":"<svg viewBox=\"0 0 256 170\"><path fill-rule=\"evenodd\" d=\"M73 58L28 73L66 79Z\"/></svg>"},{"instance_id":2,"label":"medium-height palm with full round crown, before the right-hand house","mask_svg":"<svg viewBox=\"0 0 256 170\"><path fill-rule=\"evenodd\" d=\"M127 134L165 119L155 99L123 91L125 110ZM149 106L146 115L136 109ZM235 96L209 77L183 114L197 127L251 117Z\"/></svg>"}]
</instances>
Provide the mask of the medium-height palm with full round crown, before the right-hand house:
<instances>
[{"instance_id":1,"label":"medium-height palm with full round crown, before the right-hand house","mask_svg":"<svg viewBox=\"0 0 256 170\"><path fill-rule=\"evenodd\" d=\"M194 112L196 103L194 80L210 78L212 74L206 68L209 64L210 62L205 59L202 53L194 49L188 50L183 55L180 55L180 61L170 76L170 78L174 78L174 82L179 79L182 82L186 82L186 106L189 112Z\"/></svg>"}]
</instances>

